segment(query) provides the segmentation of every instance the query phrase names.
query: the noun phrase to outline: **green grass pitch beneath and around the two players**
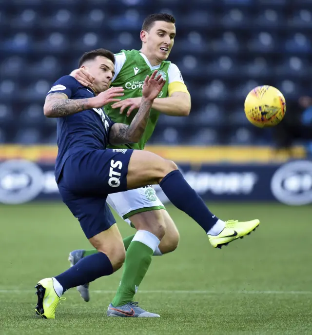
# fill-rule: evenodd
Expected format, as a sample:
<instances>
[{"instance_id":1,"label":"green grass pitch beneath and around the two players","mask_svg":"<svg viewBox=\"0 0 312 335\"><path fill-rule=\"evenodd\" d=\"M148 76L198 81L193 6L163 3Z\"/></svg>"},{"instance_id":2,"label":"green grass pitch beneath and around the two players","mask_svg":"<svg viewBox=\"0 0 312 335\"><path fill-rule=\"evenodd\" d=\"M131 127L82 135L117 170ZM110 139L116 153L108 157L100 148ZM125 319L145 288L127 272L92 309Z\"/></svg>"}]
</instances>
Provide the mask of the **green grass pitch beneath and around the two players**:
<instances>
[{"instance_id":1,"label":"green grass pitch beneath and around the two players","mask_svg":"<svg viewBox=\"0 0 312 335\"><path fill-rule=\"evenodd\" d=\"M250 236L221 250L172 206L178 249L153 257L136 295L159 319L107 318L121 271L91 285L91 301L65 294L55 320L35 317L34 286L56 276L73 249L89 248L61 203L0 206L1 335L312 334L312 207L211 204L220 218L261 220ZM123 236L134 233L118 220Z\"/></svg>"}]
</instances>

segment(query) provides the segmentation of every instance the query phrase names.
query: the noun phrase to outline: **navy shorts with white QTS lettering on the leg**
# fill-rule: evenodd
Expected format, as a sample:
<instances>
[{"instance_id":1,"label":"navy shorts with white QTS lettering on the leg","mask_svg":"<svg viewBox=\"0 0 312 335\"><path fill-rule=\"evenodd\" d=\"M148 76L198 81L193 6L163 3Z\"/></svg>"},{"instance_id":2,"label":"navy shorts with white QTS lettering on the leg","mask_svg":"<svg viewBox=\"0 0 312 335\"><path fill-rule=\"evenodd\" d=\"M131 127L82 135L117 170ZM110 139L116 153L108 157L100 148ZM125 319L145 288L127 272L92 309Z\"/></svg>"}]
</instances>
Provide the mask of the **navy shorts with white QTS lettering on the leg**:
<instances>
[{"instance_id":1,"label":"navy shorts with white QTS lettering on the leg","mask_svg":"<svg viewBox=\"0 0 312 335\"><path fill-rule=\"evenodd\" d=\"M65 161L59 193L87 238L116 223L106 198L108 194L127 190L132 153L132 149L88 150L72 154Z\"/></svg>"}]
</instances>

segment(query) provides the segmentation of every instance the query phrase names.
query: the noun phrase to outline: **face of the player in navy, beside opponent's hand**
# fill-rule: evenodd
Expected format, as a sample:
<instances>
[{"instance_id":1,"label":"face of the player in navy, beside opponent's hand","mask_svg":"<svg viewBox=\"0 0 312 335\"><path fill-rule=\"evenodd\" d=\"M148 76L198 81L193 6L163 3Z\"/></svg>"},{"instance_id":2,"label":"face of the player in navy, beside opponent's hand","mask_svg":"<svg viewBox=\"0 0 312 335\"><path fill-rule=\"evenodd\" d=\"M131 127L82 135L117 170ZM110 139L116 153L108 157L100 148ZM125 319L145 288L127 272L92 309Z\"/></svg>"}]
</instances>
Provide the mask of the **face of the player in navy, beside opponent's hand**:
<instances>
[{"instance_id":1,"label":"face of the player in navy, beside opponent's hand","mask_svg":"<svg viewBox=\"0 0 312 335\"><path fill-rule=\"evenodd\" d=\"M115 74L114 63L110 59L98 56L87 63L85 68L95 78L93 89L96 93L106 91L109 88Z\"/></svg>"}]
</instances>

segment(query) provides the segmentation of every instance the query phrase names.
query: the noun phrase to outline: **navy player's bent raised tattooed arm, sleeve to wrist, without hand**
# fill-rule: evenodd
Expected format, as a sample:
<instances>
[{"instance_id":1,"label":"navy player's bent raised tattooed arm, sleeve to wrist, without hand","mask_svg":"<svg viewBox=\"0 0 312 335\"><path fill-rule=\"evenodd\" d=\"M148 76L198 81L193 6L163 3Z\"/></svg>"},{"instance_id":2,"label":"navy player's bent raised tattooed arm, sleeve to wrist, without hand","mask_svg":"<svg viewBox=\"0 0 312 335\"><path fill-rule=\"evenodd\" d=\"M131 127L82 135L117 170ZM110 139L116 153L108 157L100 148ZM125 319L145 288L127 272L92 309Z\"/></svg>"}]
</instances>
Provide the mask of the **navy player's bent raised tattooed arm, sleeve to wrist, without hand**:
<instances>
[{"instance_id":1,"label":"navy player's bent raised tattooed arm, sleeve to wrist, without hand","mask_svg":"<svg viewBox=\"0 0 312 335\"><path fill-rule=\"evenodd\" d=\"M137 143L145 130L153 101L143 99L137 115L130 125L123 123L113 124L109 132L109 142L111 144Z\"/></svg>"}]
</instances>

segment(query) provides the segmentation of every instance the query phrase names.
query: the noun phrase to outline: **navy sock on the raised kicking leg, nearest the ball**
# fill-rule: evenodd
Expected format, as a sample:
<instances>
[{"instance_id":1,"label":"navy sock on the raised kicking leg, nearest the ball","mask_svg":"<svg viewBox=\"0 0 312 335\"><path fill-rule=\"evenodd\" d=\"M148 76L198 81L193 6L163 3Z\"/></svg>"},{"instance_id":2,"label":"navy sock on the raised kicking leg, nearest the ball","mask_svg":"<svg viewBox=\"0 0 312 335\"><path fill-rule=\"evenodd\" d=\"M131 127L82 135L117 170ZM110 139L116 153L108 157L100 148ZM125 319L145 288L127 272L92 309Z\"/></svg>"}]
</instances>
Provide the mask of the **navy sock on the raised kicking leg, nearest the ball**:
<instances>
[{"instance_id":1,"label":"navy sock on the raised kicking leg, nearest the ball","mask_svg":"<svg viewBox=\"0 0 312 335\"><path fill-rule=\"evenodd\" d=\"M215 225L218 218L210 212L179 170L171 171L159 185L176 208L192 217L206 233Z\"/></svg>"}]
</instances>

